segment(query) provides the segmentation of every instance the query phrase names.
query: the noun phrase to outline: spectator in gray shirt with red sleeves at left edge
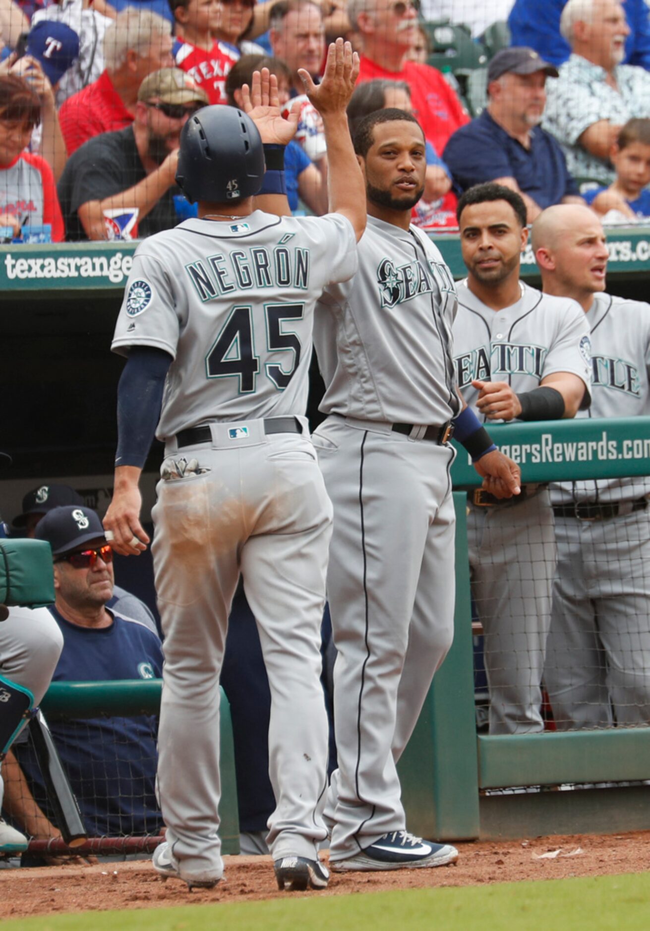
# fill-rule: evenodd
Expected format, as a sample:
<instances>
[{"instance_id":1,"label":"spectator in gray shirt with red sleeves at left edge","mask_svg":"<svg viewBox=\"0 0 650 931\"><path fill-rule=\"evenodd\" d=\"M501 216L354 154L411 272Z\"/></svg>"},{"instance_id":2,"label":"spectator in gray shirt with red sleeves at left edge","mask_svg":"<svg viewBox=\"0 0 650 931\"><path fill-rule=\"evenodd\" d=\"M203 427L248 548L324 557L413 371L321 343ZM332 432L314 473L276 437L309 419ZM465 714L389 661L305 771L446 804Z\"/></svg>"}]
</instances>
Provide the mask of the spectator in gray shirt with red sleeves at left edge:
<instances>
[{"instance_id":1,"label":"spectator in gray shirt with red sleeves at left edge","mask_svg":"<svg viewBox=\"0 0 650 931\"><path fill-rule=\"evenodd\" d=\"M49 223L53 242L63 239L63 219L52 169L25 152L41 121L36 91L16 74L0 76L0 226L20 236L25 226Z\"/></svg>"}]
</instances>

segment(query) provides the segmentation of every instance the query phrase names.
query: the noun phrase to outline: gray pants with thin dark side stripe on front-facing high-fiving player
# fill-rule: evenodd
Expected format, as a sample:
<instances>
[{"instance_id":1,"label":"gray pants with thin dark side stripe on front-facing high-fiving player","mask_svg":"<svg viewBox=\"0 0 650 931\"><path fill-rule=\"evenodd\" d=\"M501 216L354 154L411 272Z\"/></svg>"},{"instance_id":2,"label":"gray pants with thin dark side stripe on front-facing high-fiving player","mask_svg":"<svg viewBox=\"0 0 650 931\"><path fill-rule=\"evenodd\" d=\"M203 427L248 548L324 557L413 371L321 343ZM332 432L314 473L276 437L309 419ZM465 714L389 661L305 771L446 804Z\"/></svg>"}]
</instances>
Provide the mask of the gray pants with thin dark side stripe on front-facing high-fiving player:
<instances>
[{"instance_id":1,"label":"gray pants with thin dark side stripe on front-facing high-fiving player","mask_svg":"<svg viewBox=\"0 0 650 931\"><path fill-rule=\"evenodd\" d=\"M334 507L339 769L325 815L336 860L406 827L396 762L453 637L453 453L340 418L320 425L314 443Z\"/></svg>"}]
</instances>

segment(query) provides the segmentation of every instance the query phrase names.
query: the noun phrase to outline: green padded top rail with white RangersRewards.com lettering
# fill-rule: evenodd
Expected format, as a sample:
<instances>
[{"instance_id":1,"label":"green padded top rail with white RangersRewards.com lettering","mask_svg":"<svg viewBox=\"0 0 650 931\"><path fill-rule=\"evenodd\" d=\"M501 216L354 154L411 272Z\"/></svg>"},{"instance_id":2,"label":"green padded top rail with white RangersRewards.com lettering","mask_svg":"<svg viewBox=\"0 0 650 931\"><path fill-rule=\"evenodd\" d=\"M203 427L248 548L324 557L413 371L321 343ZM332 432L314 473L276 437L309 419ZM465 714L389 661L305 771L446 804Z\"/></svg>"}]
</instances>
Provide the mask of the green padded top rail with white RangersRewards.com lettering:
<instances>
[{"instance_id":1,"label":"green padded top rail with white RangersRewards.com lettering","mask_svg":"<svg viewBox=\"0 0 650 931\"><path fill-rule=\"evenodd\" d=\"M521 467L523 481L564 481L650 475L650 417L487 425L501 452ZM454 487L481 484L458 448Z\"/></svg>"}]
</instances>

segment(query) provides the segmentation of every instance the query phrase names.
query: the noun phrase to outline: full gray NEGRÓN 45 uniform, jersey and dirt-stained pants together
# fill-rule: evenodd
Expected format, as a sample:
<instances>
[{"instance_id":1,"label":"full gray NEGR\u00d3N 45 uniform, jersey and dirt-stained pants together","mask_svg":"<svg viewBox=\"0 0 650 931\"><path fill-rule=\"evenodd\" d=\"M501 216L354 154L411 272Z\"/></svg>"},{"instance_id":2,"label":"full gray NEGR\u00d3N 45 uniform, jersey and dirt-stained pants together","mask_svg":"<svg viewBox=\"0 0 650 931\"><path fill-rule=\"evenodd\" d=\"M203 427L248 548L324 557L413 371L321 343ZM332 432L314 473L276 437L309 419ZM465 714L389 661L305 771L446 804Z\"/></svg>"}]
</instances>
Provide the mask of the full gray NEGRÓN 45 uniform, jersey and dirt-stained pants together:
<instances>
[{"instance_id":1,"label":"full gray NEGR\u00d3N 45 uniform, jersey and dirt-stained pants together","mask_svg":"<svg viewBox=\"0 0 650 931\"><path fill-rule=\"evenodd\" d=\"M173 358L152 511L165 635L157 787L188 882L223 872L219 675L240 573L271 690L277 808L267 843L274 859L315 859L327 836L319 676L332 506L303 414L314 305L356 267L344 217L259 211L187 221L143 241L134 257L113 347L155 346Z\"/></svg>"}]
</instances>

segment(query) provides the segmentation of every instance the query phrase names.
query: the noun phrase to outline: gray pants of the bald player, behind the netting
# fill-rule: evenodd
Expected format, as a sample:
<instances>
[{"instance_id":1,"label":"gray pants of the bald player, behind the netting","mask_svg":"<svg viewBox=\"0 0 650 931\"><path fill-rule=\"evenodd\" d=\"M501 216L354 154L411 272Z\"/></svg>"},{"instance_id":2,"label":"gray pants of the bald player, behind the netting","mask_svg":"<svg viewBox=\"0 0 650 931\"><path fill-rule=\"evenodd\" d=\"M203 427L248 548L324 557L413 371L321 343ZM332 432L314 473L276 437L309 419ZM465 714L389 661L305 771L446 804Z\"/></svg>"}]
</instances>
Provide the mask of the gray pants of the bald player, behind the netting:
<instances>
[{"instance_id":1,"label":"gray pants of the bald player, behind the netting","mask_svg":"<svg viewBox=\"0 0 650 931\"><path fill-rule=\"evenodd\" d=\"M555 519L544 681L560 730L650 723L650 508Z\"/></svg>"}]
</instances>

